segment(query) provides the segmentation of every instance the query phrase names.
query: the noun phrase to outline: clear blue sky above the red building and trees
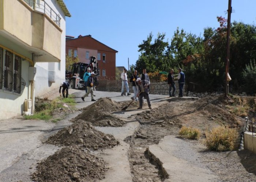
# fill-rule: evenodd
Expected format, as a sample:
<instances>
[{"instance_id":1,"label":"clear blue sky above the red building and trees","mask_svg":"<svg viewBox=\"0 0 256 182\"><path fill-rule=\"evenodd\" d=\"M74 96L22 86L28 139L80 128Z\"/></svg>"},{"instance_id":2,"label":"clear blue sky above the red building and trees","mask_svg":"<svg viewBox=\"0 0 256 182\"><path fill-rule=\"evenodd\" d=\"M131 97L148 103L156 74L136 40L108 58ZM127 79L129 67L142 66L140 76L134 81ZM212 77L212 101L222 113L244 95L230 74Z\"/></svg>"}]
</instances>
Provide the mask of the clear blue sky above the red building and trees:
<instances>
[{"instance_id":1,"label":"clear blue sky above the red building and trees","mask_svg":"<svg viewBox=\"0 0 256 182\"><path fill-rule=\"evenodd\" d=\"M138 45L157 33L173 37L177 27L202 35L205 27L218 28L217 16L227 18L228 0L64 0L66 35L91 35L117 50L116 66L128 68L140 53ZM232 0L231 22L256 22L256 0Z\"/></svg>"}]
</instances>

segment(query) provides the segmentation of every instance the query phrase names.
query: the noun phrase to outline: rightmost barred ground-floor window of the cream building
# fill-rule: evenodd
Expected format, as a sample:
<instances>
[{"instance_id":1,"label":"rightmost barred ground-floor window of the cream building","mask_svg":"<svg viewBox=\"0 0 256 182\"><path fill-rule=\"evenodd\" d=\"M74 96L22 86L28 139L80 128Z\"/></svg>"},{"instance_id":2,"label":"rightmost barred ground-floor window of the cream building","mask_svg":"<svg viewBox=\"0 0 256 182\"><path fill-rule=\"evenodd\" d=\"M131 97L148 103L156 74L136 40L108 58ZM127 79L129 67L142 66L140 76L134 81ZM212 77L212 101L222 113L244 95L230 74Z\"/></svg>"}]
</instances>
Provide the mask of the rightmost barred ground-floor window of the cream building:
<instances>
[{"instance_id":1,"label":"rightmost barred ground-floor window of the cream building","mask_svg":"<svg viewBox=\"0 0 256 182\"><path fill-rule=\"evenodd\" d=\"M14 91L20 94L21 88L21 58L15 56L14 62Z\"/></svg>"}]
</instances>

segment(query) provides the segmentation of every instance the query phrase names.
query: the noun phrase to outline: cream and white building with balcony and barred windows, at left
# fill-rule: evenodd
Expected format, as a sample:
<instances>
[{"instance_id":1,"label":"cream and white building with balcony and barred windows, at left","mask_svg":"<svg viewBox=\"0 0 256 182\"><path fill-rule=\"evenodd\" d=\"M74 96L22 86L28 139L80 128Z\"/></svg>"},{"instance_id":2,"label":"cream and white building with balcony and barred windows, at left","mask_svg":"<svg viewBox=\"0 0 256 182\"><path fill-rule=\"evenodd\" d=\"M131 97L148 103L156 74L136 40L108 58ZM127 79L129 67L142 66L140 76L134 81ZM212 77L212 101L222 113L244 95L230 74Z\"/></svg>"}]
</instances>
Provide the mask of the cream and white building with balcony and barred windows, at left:
<instances>
[{"instance_id":1,"label":"cream and white building with balcony and barred windows, at left","mask_svg":"<svg viewBox=\"0 0 256 182\"><path fill-rule=\"evenodd\" d=\"M65 80L65 16L63 0L0 0L1 119L33 113Z\"/></svg>"}]
</instances>

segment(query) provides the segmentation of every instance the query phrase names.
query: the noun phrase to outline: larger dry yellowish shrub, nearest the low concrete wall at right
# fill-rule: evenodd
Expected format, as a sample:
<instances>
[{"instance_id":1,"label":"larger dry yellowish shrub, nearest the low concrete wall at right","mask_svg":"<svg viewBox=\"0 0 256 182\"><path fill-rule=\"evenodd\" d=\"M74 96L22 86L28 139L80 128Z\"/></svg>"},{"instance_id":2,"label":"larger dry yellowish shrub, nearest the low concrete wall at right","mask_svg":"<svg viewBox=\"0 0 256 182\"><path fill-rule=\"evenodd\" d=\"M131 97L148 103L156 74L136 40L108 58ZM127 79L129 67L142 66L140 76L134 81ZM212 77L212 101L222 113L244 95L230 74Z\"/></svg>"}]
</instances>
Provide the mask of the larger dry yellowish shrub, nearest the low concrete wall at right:
<instances>
[{"instance_id":1,"label":"larger dry yellowish shrub, nearest the low concrete wall at right","mask_svg":"<svg viewBox=\"0 0 256 182\"><path fill-rule=\"evenodd\" d=\"M212 129L212 131L206 132L205 135L208 150L230 151L234 149L234 143L238 133L236 129L220 126Z\"/></svg>"}]
</instances>

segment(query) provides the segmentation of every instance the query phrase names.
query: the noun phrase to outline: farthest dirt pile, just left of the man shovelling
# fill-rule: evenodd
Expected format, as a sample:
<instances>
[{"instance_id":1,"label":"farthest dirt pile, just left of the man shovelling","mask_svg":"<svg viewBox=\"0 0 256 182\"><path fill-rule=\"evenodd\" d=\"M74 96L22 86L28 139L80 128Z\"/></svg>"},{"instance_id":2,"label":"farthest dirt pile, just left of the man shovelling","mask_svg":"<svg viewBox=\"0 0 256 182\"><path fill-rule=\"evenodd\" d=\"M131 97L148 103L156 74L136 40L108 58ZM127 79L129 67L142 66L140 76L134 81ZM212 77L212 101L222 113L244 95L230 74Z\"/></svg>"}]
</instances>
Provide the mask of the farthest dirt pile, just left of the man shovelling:
<instances>
[{"instance_id":1,"label":"farthest dirt pile, just left of the man shovelling","mask_svg":"<svg viewBox=\"0 0 256 182\"><path fill-rule=\"evenodd\" d=\"M94 126L123 126L126 122L116 118L110 112L121 110L122 105L109 98L101 98L95 103L83 109L83 112L73 118L71 122L83 119L91 122Z\"/></svg>"}]
</instances>

